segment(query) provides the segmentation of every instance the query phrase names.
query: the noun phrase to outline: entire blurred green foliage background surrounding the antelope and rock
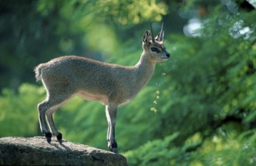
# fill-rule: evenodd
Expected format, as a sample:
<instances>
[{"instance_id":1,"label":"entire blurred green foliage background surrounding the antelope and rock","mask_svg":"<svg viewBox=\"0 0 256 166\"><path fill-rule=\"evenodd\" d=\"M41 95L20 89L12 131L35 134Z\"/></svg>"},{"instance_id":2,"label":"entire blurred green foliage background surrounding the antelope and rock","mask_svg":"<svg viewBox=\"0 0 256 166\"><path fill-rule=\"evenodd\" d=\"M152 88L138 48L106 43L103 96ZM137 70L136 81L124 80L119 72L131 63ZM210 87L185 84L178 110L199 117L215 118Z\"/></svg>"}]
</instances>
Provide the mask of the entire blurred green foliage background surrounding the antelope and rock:
<instances>
[{"instance_id":1,"label":"entire blurred green foliage background surrounding the antelope and rock","mask_svg":"<svg viewBox=\"0 0 256 166\"><path fill-rule=\"evenodd\" d=\"M79 55L134 65L141 38L164 21L171 59L119 108L129 165L256 164L256 2L0 1L0 137L42 136L45 99L33 68ZM65 140L107 149L104 106L75 97L54 114Z\"/></svg>"}]
</instances>

